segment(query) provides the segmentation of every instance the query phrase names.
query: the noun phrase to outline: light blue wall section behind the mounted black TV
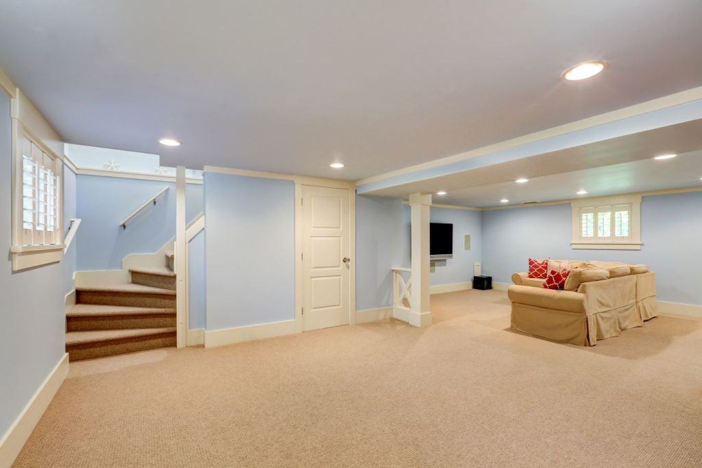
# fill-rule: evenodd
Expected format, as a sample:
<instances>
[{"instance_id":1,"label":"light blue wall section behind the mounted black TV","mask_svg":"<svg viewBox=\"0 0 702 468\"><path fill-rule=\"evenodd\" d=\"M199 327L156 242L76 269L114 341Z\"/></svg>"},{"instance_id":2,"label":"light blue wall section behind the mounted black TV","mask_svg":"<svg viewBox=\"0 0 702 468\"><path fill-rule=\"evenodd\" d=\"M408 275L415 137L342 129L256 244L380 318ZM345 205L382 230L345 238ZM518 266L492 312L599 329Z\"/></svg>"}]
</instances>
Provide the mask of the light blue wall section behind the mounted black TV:
<instances>
[{"instance_id":1,"label":"light blue wall section behind the mounted black TV","mask_svg":"<svg viewBox=\"0 0 702 468\"><path fill-rule=\"evenodd\" d=\"M453 225L453 258L437 260L431 273L430 284L464 283L473 279L473 264L482 257L481 212L431 208L431 222ZM463 237L470 234L470 250L465 250Z\"/></svg>"}]
</instances>

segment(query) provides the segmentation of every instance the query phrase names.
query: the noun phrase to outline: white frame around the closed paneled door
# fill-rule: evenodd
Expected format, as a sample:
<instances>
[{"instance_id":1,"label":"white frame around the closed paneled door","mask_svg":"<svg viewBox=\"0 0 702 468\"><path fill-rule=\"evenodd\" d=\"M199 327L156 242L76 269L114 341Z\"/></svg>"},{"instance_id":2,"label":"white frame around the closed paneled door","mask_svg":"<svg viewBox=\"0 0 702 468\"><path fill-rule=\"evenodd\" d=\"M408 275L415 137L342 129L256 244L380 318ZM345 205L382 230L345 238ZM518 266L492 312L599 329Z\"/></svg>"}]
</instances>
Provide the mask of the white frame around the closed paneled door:
<instances>
[{"instance_id":1,"label":"white frame around the closed paneled door","mask_svg":"<svg viewBox=\"0 0 702 468\"><path fill-rule=\"evenodd\" d=\"M305 288L303 277L303 185L349 191L349 325L356 323L356 186L346 180L294 177L295 182L295 321L303 331Z\"/></svg>"}]
</instances>

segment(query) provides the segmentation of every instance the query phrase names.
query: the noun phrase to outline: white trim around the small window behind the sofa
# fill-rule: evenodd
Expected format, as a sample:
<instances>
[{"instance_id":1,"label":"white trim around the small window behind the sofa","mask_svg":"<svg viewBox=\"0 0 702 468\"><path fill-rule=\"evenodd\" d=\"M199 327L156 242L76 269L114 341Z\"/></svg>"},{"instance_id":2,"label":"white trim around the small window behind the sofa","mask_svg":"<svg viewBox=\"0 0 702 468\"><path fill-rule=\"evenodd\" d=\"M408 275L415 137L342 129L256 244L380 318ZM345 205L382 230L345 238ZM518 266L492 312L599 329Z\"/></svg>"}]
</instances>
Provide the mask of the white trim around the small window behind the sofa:
<instances>
[{"instance_id":1,"label":"white trim around the small window behind the sofa","mask_svg":"<svg viewBox=\"0 0 702 468\"><path fill-rule=\"evenodd\" d=\"M593 250L641 250L641 196L618 195L602 196L597 198L581 199L571 202L572 210L572 239L571 248ZM631 206L630 237L627 241L593 241L581 237L581 208L597 206ZM595 231L597 230L597 216L595 216Z\"/></svg>"}]
</instances>

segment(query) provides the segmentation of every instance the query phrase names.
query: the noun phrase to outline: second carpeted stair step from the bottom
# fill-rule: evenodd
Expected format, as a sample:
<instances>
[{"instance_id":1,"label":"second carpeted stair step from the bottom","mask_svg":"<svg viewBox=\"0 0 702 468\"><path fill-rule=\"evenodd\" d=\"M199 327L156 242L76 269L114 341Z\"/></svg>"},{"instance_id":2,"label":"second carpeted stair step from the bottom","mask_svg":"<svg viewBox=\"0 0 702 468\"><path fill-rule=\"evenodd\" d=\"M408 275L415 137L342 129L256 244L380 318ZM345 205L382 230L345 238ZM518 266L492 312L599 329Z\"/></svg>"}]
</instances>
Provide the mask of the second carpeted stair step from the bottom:
<instances>
[{"instance_id":1,"label":"second carpeted stair step from the bottom","mask_svg":"<svg viewBox=\"0 0 702 468\"><path fill-rule=\"evenodd\" d=\"M176 309L77 304L66 313L67 331L176 326Z\"/></svg>"}]
</instances>

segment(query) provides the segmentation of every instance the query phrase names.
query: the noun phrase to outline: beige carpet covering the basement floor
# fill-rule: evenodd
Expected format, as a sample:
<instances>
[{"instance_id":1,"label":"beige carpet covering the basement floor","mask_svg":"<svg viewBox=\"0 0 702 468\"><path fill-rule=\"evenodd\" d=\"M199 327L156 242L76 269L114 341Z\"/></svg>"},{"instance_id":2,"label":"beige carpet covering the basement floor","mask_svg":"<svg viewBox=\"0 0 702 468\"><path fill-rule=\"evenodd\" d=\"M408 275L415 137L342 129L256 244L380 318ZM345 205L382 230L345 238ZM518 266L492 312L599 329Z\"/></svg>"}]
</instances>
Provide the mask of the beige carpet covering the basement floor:
<instances>
[{"instance_id":1,"label":"beige carpet covering the basement floor","mask_svg":"<svg viewBox=\"0 0 702 468\"><path fill-rule=\"evenodd\" d=\"M702 465L702 322L512 333L499 291L397 321L71 363L18 467Z\"/></svg>"}]
</instances>

